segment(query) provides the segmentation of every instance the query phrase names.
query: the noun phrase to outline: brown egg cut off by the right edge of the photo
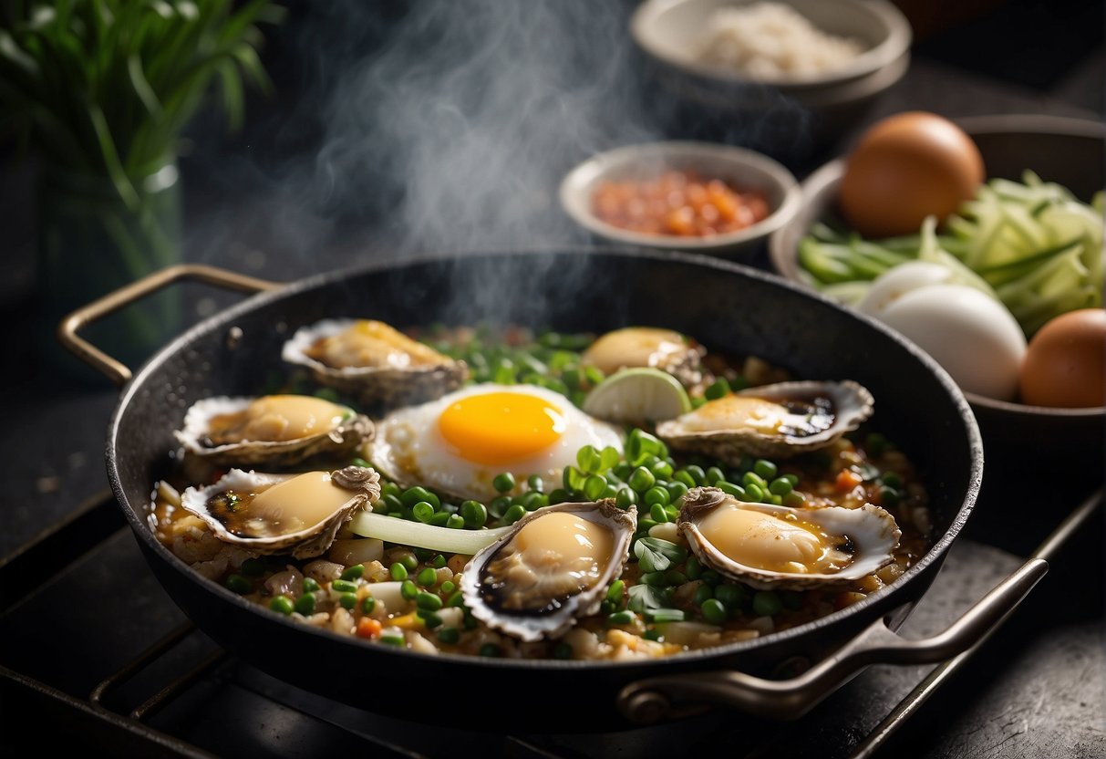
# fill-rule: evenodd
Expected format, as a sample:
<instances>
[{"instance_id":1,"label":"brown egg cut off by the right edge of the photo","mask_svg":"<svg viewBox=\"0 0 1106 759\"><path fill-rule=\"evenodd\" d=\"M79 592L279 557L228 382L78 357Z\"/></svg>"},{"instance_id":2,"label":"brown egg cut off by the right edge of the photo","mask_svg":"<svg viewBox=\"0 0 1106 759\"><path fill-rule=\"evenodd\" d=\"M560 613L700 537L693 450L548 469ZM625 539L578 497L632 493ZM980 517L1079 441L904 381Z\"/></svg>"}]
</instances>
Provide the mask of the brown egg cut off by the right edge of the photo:
<instances>
[{"instance_id":1,"label":"brown egg cut off by the right edge of the photo","mask_svg":"<svg viewBox=\"0 0 1106 759\"><path fill-rule=\"evenodd\" d=\"M1106 405L1106 311L1068 311L1033 335L1022 363L1021 398L1032 406Z\"/></svg>"}]
</instances>

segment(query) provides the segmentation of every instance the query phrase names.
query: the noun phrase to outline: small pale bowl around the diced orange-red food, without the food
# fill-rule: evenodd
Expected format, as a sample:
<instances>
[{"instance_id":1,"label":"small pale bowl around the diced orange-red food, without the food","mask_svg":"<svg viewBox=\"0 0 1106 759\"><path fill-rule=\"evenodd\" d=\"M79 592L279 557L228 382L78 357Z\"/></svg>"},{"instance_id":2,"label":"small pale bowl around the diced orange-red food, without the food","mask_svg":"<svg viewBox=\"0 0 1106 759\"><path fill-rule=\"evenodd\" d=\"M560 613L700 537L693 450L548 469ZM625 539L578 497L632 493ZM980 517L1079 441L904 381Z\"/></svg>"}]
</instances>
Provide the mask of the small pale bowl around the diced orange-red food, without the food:
<instances>
[{"instance_id":1,"label":"small pale bowl around the diced orange-red food, without the food","mask_svg":"<svg viewBox=\"0 0 1106 759\"><path fill-rule=\"evenodd\" d=\"M615 227L592 211L592 198L603 181L646 179L666 169L695 171L706 178L721 179L738 189L759 189L768 199L769 216L733 232L679 237ZM562 208L570 217L607 241L732 256L764 246L768 236L799 211L802 194L790 170L754 150L717 143L657 142L627 145L588 158L565 175L560 198Z\"/></svg>"}]
</instances>

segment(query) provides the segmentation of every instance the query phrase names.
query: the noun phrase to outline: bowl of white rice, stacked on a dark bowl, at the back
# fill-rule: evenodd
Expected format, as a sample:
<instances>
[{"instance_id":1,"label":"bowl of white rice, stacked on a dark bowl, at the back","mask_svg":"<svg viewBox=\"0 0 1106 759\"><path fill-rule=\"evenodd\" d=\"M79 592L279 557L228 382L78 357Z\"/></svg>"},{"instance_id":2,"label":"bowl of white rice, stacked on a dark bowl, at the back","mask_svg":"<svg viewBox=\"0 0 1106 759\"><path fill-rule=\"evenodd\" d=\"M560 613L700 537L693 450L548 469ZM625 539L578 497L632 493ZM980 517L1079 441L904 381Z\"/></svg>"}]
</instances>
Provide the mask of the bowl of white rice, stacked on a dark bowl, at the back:
<instances>
[{"instance_id":1,"label":"bowl of white rice, stacked on a dark bowl, at the back","mask_svg":"<svg viewBox=\"0 0 1106 759\"><path fill-rule=\"evenodd\" d=\"M789 163L855 126L912 40L886 0L645 0L629 31L658 115Z\"/></svg>"}]
</instances>

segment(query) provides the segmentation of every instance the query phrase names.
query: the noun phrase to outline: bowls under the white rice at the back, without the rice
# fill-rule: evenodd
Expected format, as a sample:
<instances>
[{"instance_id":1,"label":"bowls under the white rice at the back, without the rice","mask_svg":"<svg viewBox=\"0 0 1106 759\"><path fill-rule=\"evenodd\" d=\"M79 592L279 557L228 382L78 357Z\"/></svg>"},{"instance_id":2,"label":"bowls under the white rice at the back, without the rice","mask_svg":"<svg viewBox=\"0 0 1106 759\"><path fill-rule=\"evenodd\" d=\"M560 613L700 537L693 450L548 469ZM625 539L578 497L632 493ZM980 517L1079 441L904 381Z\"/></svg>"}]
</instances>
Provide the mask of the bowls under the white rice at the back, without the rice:
<instances>
[{"instance_id":1,"label":"bowls under the white rice at the back, without the rice","mask_svg":"<svg viewBox=\"0 0 1106 759\"><path fill-rule=\"evenodd\" d=\"M856 59L820 75L757 79L700 61L711 13L754 1L644 0L633 13L630 37L684 121L712 121L747 134L742 144L795 157L800 145L810 153L844 135L909 67L912 30L887 0L779 0L821 31L864 45Z\"/></svg>"}]
</instances>

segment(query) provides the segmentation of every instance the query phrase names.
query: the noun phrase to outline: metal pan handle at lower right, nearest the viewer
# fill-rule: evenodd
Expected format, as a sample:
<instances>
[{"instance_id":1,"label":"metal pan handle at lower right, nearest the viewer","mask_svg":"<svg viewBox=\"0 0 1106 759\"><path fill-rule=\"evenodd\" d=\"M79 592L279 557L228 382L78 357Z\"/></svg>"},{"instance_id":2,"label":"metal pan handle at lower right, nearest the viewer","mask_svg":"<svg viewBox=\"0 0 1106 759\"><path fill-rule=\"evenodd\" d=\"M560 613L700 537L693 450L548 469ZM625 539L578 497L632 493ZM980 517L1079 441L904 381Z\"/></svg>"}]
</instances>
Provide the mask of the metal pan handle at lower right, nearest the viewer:
<instances>
[{"instance_id":1,"label":"metal pan handle at lower right, nearest the viewer","mask_svg":"<svg viewBox=\"0 0 1106 759\"><path fill-rule=\"evenodd\" d=\"M618 694L618 708L639 725L685 717L711 705L794 719L870 664L931 664L967 651L1013 612L1047 571L1048 562L1030 559L932 637L908 641L891 632L880 617L839 651L792 679L771 680L732 670L649 677L624 687Z\"/></svg>"}]
</instances>

